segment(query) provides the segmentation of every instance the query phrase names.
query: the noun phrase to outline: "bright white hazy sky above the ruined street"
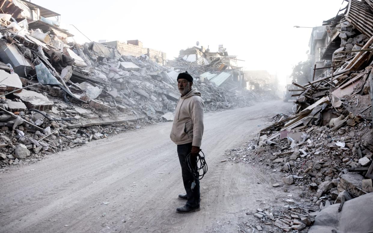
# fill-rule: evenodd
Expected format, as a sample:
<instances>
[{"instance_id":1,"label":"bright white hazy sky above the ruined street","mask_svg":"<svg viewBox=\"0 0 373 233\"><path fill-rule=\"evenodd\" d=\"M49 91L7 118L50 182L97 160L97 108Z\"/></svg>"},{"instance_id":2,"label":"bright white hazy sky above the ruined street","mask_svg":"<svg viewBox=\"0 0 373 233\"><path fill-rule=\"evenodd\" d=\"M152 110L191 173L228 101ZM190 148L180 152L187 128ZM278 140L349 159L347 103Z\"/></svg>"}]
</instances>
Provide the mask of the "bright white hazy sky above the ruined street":
<instances>
[{"instance_id":1,"label":"bright white hazy sky above the ruined street","mask_svg":"<svg viewBox=\"0 0 373 233\"><path fill-rule=\"evenodd\" d=\"M140 40L167 59L195 45L223 44L245 70L268 70L281 80L307 59L311 28L338 13L343 0L78 1L31 0L60 13L61 27L78 43ZM345 5L345 3L344 3Z\"/></svg>"}]
</instances>

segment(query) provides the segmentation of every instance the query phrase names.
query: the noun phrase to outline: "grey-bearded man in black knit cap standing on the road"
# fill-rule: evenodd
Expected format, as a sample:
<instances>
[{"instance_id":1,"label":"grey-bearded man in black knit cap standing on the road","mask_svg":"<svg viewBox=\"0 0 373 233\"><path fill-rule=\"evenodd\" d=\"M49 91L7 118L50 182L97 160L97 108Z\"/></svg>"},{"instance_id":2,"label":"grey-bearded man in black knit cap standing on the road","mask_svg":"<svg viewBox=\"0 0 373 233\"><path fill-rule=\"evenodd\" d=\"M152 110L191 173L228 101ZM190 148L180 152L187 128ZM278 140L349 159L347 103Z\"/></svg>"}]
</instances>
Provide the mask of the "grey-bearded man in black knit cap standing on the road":
<instances>
[{"instance_id":1,"label":"grey-bearded man in black knit cap standing on the road","mask_svg":"<svg viewBox=\"0 0 373 233\"><path fill-rule=\"evenodd\" d=\"M186 194L179 194L179 198L186 200L186 204L176 208L176 212L189 213L200 210L200 181L187 169L185 158L191 154L191 166L197 167L203 135L204 105L201 93L192 89L193 78L188 72L180 73L177 80L181 97L176 106L170 138L178 147L186 191Z\"/></svg>"}]
</instances>

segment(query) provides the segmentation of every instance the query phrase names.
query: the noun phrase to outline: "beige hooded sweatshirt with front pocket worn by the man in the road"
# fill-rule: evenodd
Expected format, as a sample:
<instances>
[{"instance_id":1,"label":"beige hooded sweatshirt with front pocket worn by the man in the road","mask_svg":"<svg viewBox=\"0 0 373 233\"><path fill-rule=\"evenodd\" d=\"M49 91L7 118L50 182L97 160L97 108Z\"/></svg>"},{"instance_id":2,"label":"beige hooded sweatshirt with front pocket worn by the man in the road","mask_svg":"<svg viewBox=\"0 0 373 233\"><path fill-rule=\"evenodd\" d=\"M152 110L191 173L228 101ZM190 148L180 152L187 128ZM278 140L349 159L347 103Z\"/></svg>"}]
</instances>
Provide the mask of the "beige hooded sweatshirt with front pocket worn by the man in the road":
<instances>
[{"instance_id":1,"label":"beige hooded sweatshirt with front pocket worn by the man in the road","mask_svg":"<svg viewBox=\"0 0 373 233\"><path fill-rule=\"evenodd\" d=\"M181 145L192 142L192 146L201 147L203 111L201 92L195 88L180 97L170 134L170 138L175 144Z\"/></svg>"}]
</instances>

